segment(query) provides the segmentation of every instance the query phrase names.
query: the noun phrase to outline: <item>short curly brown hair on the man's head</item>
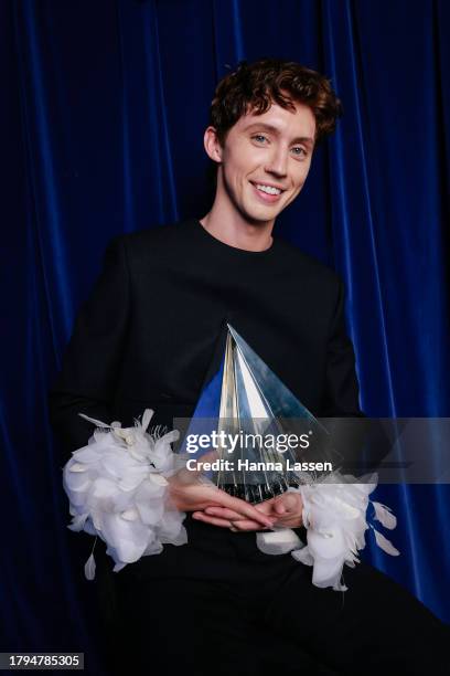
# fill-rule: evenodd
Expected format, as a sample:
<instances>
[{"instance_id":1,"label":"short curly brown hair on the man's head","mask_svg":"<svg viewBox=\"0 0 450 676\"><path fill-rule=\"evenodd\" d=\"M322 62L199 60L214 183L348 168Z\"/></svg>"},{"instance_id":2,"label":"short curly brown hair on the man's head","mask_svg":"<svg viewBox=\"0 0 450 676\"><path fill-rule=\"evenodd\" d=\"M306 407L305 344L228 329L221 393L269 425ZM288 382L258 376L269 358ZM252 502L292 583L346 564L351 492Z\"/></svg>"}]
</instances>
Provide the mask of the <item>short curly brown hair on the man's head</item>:
<instances>
[{"instance_id":1,"label":"short curly brown hair on the man's head","mask_svg":"<svg viewBox=\"0 0 450 676\"><path fill-rule=\"evenodd\" d=\"M294 109L293 102L309 106L315 118L315 142L334 131L336 118L342 115L330 81L317 71L279 59L242 61L221 80L211 104L210 124L221 145L243 115L249 110L262 115L274 102L288 109Z\"/></svg>"}]
</instances>

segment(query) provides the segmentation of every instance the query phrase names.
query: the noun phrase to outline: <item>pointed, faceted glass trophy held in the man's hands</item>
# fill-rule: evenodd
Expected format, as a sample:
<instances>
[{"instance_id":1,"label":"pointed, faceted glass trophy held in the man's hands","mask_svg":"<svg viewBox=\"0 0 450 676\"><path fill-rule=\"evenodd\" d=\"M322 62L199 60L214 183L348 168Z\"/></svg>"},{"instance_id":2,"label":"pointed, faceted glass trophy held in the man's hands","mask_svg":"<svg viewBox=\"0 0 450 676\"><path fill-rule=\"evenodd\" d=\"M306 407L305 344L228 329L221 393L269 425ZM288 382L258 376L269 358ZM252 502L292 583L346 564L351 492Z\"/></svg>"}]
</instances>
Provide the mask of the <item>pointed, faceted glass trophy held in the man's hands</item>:
<instances>
[{"instance_id":1,"label":"pointed, faceted glass trophy held in the man's hands","mask_svg":"<svg viewBox=\"0 0 450 676\"><path fill-rule=\"evenodd\" d=\"M194 453L217 487L254 504L317 480L342 461L325 427L229 324L221 367L199 399L181 451Z\"/></svg>"}]
</instances>

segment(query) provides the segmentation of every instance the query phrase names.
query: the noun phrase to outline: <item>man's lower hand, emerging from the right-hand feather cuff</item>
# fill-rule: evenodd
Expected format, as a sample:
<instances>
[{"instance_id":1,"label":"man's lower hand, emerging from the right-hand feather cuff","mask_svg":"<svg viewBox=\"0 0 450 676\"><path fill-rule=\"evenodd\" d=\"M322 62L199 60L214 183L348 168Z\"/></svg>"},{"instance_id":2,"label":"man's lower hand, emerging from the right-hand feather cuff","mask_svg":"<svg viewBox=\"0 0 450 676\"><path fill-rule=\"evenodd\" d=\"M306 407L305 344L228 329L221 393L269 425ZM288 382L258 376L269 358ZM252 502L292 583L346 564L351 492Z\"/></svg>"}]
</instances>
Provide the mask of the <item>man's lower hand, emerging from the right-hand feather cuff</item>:
<instances>
[{"instance_id":1,"label":"man's lower hand, emerging from the right-hand feather cuff","mask_svg":"<svg viewBox=\"0 0 450 676\"><path fill-rule=\"evenodd\" d=\"M303 500L299 493L289 492L265 500L255 508L274 519L274 526L282 528L300 528L302 525ZM210 506L192 515L206 524L236 530L261 530L260 524L255 519L243 519L242 516L228 507Z\"/></svg>"}]
</instances>

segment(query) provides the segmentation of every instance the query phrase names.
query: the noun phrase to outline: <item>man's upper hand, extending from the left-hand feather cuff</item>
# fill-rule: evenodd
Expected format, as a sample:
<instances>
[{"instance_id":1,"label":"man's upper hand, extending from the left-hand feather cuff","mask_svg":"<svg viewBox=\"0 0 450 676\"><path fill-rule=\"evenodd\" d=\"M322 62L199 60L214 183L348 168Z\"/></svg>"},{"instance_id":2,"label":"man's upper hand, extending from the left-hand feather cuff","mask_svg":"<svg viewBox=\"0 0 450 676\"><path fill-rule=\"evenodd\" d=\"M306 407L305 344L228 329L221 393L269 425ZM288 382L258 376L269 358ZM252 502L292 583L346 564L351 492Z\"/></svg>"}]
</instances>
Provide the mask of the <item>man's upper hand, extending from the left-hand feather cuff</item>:
<instances>
[{"instance_id":1,"label":"man's upper hand, extending from the left-hand feather cuff","mask_svg":"<svg viewBox=\"0 0 450 676\"><path fill-rule=\"evenodd\" d=\"M195 515L205 514L206 509L217 508L229 510L231 514L235 515L235 518L242 519L244 522L256 524L258 529L271 528L274 524L274 519L249 503L232 497L214 484L202 483L196 472L181 469L168 482L169 497L173 505L180 511L193 511L193 518L196 518ZM221 524L215 524L214 519L207 522L223 525L222 521L224 520L226 521L226 519L221 519ZM232 522L226 521L226 528L231 526Z\"/></svg>"}]
</instances>

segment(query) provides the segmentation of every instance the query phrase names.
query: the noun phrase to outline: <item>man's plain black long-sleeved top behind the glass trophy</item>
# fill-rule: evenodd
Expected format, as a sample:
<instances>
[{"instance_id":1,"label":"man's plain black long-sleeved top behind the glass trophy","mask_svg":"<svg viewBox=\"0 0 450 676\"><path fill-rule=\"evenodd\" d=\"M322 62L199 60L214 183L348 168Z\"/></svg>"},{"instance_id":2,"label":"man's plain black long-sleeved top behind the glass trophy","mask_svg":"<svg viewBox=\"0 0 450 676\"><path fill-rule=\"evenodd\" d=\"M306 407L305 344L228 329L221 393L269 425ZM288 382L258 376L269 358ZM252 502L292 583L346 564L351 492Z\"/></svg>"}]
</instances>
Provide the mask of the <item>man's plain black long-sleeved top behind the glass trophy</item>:
<instances>
[{"instance_id":1,"label":"man's plain black long-sleeved top behind the glass trophy","mask_svg":"<svg viewBox=\"0 0 450 676\"><path fill-rule=\"evenodd\" d=\"M336 274L275 237L224 244L197 220L120 235L75 323L51 416L66 452L92 425L192 413L228 321L315 415L357 415L353 348ZM66 458L65 458L66 460Z\"/></svg>"}]
</instances>

